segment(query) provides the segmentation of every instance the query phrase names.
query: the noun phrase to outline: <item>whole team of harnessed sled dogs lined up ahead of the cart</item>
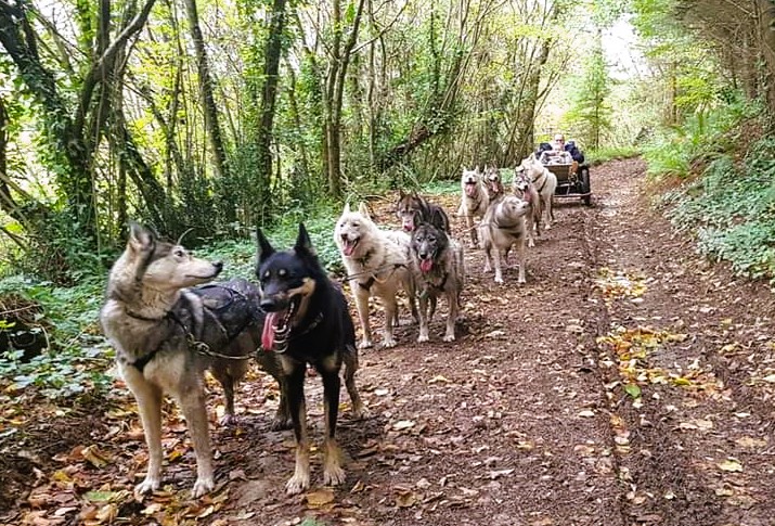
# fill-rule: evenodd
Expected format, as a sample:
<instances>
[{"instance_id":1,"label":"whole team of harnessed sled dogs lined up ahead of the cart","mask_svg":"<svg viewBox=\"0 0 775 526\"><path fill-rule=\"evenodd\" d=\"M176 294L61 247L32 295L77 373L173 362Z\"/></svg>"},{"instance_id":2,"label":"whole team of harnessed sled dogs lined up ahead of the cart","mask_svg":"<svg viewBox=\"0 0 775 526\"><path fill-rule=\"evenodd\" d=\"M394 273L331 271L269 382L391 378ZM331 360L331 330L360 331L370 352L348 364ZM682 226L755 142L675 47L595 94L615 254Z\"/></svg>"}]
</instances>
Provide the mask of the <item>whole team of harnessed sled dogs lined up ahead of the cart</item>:
<instances>
[{"instance_id":1,"label":"whole team of harnessed sled dogs lined up ahead of the cart","mask_svg":"<svg viewBox=\"0 0 775 526\"><path fill-rule=\"evenodd\" d=\"M513 192L506 193L496 169L463 169L461 205L470 235L470 247L491 259L495 281L503 282L502 258L514 247L519 265L518 282L525 282L526 246L533 246L541 221L550 228L555 176L534 156L516 169ZM205 371L222 385L225 398L223 424L234 421L234 387L255 358L280 385L280 403L272 429L293 428L296 466L286 491L298 493L310 486L310 440L307 428L303 382L307 367L323 383L325 436L323 483L345 480L336 442L340 371L352 401L352 415L365 415L354 383L357 347L374 345L369 320L369 299L379 298L385 311L383 345L396 346L399 291L409 298L418 322L417 342L428 342L429 321L439 297L448 316L444 342L455 339L465 269L463 246L450 233L444 210L416 193L400 192L396 213L402 231L380 229L365 205L345 206L336 222L334 240L347 270L361 325L356 329L341 287L321 266L303 224L295 245L275 249L257 232L257 284L236 279L212 282L221 262L193 257L179 243L159 239L137 223L130 226L127 246L111 269L100 319L111 339L118 369L139 407L148 466L138 493L157 490L162 484L162 402L165 394L181 408L196 457L194 498L215 488L212 451L205 405ZM480 221L475 226L475 218ZM415 302L416 299L416 302Z\"/></svg>"}]
</instances>

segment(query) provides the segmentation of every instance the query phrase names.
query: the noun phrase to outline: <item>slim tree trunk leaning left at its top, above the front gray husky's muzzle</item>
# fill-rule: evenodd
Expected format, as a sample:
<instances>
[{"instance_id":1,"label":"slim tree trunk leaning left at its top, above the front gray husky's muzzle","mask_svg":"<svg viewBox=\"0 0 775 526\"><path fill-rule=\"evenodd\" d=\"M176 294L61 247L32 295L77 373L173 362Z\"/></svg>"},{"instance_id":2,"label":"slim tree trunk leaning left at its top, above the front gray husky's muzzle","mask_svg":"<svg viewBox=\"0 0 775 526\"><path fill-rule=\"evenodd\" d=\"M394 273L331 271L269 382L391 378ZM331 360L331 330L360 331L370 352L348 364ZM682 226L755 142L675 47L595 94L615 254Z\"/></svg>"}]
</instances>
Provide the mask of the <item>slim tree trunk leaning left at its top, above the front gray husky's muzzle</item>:
<instances>
[{"instance_id":1,"label":"slim tree trunk leaning left at its top, above the front gray husky's muzzle","mask_svg":"<svg viewBox=\"0 0 775 526\"><path fill-rule=\"evenodd\" d=\"M194 52L196 53L196 68L199 75L199 95L205 112L205 130L212 150L212 168L217 177L227 174L225 149L221 138L221 128L218 124L218 107L212 93L212 79L210 78L210 67L207 62L205 51L205 40L199 28L199 15L196 11L196 0L185 0L185 10L189 15L191 26L191 39L194 41Z\"/></svg>"}]
</instances>

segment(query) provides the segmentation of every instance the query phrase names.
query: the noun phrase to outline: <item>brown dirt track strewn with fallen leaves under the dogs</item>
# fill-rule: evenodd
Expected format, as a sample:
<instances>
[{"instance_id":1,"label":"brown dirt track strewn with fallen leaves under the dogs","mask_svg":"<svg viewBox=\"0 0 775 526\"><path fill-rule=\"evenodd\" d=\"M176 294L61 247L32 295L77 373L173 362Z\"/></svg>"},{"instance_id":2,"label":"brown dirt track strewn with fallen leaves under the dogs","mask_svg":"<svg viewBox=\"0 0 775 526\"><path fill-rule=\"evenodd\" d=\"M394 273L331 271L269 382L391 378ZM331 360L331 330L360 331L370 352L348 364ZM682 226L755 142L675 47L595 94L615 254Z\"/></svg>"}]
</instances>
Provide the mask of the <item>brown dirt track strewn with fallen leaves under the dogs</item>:
<instances>
[{"instance_id":1,"label":"brown dirt track strewn with fallen leaves under the dogs","mask_svg":"<svg viewBox=\"0 0 775 526\"><path fill-rule=\"evenodd\" d=\"M166 486L138 501L146 449L117 381L107 399L25 408L0 442L0 524L775 524L775 295L702 260L649 207L644 169L594 167L593 206L556 206L522 286L514 269L496 285L468 251L456 342L441 342L441 302L429 344L404 319L398 347L362 351L371 418L343 402L341 487L321 486L315 452L310 491L285 496L293 435L269 431L276 388L254 372L236 427L215 424L210 389L217 489L188 500L194 458L168 405ZM431 201L454 210L457 196ZM378 223L396 224L390 207Z\"/></svg>"}]
</instances>

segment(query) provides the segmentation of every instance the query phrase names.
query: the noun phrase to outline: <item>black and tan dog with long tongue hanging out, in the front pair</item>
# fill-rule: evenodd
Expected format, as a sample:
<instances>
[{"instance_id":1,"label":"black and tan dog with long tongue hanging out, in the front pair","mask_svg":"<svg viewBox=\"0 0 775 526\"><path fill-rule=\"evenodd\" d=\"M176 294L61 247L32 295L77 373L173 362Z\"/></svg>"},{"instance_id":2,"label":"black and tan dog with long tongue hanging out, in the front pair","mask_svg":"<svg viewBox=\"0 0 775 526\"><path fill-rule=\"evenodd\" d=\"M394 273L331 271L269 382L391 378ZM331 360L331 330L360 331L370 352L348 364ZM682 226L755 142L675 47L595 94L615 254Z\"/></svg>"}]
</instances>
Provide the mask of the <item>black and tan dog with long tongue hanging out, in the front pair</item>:
<instances>
[{"instance_id":1,"label":"black and tan dog with long tongue hanging out, in the front pair","mask_svg":"<svg viewBox=\"0 0 775 526\"><path fill-rule=\"evenodd\" d=\"M296 436L296 470L285 488L293 495L310 485L310 442L303 393L308 363L323 380L323 483L337 485L345 480L336 442L343 362L353 416L363 415L363 403L354 382L358 369L356 329L347 299L321 267L303 224L299 224L296 244L289 251L275 251L260 230L257 236L256 275L260 281L261 308L267 311L261 345L280 359Z\"/></svg>"}]
</instances>

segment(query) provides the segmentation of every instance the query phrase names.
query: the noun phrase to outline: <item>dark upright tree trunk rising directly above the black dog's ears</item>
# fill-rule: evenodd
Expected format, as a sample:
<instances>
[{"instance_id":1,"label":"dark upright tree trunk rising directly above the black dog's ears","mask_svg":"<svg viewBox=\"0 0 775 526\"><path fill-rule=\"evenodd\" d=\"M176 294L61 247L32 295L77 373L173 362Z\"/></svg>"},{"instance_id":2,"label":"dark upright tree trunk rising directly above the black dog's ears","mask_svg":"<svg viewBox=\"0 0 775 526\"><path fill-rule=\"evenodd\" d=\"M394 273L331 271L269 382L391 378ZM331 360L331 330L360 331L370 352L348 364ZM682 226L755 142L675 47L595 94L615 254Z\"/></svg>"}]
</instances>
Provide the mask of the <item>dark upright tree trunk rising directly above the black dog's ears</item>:
<instances>
[{"instance_id":1,"label":"dark upright tree trunk rising directly above the black dog's ears","mask_svg":"<svg viewBox=\"0 0 775 526\"><path fill-rule=\"evenodd\" d=\"M256 139L258 149L258 166L256 174L257 200L254 203L251 222L263 223L271 215L271 179L272 179L272 138L274 128L275 103L277 99L277 82L282 38L285 28L285 0L274 0L272 5L269 35L264 52L263 90L261 91L261 121Z\"/></svg>"}]
</instances>

